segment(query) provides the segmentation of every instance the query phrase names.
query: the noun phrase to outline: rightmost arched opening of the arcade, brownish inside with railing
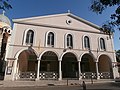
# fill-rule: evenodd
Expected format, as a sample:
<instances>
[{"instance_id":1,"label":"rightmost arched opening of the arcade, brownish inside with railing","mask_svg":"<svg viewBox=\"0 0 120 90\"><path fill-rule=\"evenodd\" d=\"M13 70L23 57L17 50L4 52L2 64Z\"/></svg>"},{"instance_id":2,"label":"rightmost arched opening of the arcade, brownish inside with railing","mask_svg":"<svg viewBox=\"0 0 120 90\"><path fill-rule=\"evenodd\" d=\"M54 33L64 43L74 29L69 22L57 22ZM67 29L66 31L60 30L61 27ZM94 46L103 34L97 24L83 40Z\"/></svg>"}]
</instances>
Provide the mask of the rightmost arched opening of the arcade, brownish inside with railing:
<instances>
[{"instance_id":1,"label":"rightmost arched opening of the arcade, brownish inside with railing","mask_svg":"<svg viewBox=\"0 0 120 90\"><path fill-rule=\"evenodd\" d=\"M112 63L107 55L101 55L99 57L98 70L101 79L113 78Z\"/></svg>"}]
</instances>

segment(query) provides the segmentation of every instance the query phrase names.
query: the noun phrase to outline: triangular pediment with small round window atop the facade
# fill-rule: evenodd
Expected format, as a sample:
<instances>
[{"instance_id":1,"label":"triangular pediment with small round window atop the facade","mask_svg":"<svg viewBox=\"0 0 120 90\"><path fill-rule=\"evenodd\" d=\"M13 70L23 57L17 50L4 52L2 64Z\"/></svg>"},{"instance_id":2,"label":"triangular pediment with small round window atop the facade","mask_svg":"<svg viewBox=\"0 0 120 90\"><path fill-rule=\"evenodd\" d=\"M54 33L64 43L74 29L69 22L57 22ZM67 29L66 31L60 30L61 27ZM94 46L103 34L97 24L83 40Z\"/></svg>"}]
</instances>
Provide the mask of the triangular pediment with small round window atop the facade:
<instances>
[{"instance_id":1,"label":"triangular pediment with small round window atop the facade","mask_svg":"<svg viewBox=\"0 0 120 90\"><path fill-rule=\"evenodd\" d=\"M15 23L70 28L89 32L100 32L100 27L71 13L14 19Z\"/></svg>"}]
</instances>

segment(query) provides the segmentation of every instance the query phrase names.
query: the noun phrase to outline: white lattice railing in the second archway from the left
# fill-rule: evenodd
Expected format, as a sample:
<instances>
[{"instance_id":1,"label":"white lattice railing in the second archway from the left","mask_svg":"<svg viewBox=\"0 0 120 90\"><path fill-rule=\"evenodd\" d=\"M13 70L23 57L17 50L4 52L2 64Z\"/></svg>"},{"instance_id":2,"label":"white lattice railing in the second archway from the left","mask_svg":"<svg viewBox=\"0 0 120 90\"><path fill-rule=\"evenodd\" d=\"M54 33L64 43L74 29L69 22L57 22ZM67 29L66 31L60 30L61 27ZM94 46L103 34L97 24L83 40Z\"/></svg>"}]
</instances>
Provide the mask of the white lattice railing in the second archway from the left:
<instances>
[{"instance_id":1,"label":"white lattice railing in the second archway from the left","mask_svg":"<svg viewBox=\"0 0 120 90\"><path fill-rule=\"evenodd\" d=\"M58 73L56 72L40 72L39 74L40 80L57 80Z\"/></svg>"}]
</instances>

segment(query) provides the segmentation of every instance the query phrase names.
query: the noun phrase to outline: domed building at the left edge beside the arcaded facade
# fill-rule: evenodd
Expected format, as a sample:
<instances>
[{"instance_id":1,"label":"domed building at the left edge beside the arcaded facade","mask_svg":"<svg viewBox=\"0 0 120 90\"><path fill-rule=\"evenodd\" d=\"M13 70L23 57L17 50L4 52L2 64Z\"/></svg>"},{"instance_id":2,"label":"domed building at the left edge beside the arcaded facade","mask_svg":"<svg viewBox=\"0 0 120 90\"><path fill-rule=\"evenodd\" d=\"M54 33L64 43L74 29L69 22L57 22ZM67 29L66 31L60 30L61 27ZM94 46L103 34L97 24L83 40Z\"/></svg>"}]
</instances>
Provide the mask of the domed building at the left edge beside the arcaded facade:
<instances>
[{"instance_id":1,"label":"domed building at the left edge beside the arcaded facade","mask_svg":"<svg viewBox=\"0 0 120 90\"><path fill-rule=\"evenodd\" d=\"M5 12L3 11L0 14L0 80L4 79L5 73L5 55L6 50L8 49L8 44L10 43L11 37L11 22L8 17L5 16Z\"/></svg>"}]
</instances>

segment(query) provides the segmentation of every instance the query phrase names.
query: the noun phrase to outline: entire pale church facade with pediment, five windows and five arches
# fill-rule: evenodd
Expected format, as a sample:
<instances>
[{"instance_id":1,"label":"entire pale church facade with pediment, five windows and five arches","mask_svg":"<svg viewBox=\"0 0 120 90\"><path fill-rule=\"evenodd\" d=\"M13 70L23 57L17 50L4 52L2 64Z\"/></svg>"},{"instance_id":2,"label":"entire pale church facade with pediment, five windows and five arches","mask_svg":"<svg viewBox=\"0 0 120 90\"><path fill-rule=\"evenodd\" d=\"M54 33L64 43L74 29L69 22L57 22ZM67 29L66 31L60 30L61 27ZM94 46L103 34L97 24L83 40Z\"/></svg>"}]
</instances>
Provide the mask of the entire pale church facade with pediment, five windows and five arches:
<instances>
[{"instance_id":1,"label":"entire pale church facade with pediment, five windows and five arches","mask_svg":"<svg viewBox=\"0 0 120 90\"><path fill-rule=\"evenodd\" d=\"M5 80L113 79L113 37L71 13L13 20Z\"/></svg>"}]
</instances>

